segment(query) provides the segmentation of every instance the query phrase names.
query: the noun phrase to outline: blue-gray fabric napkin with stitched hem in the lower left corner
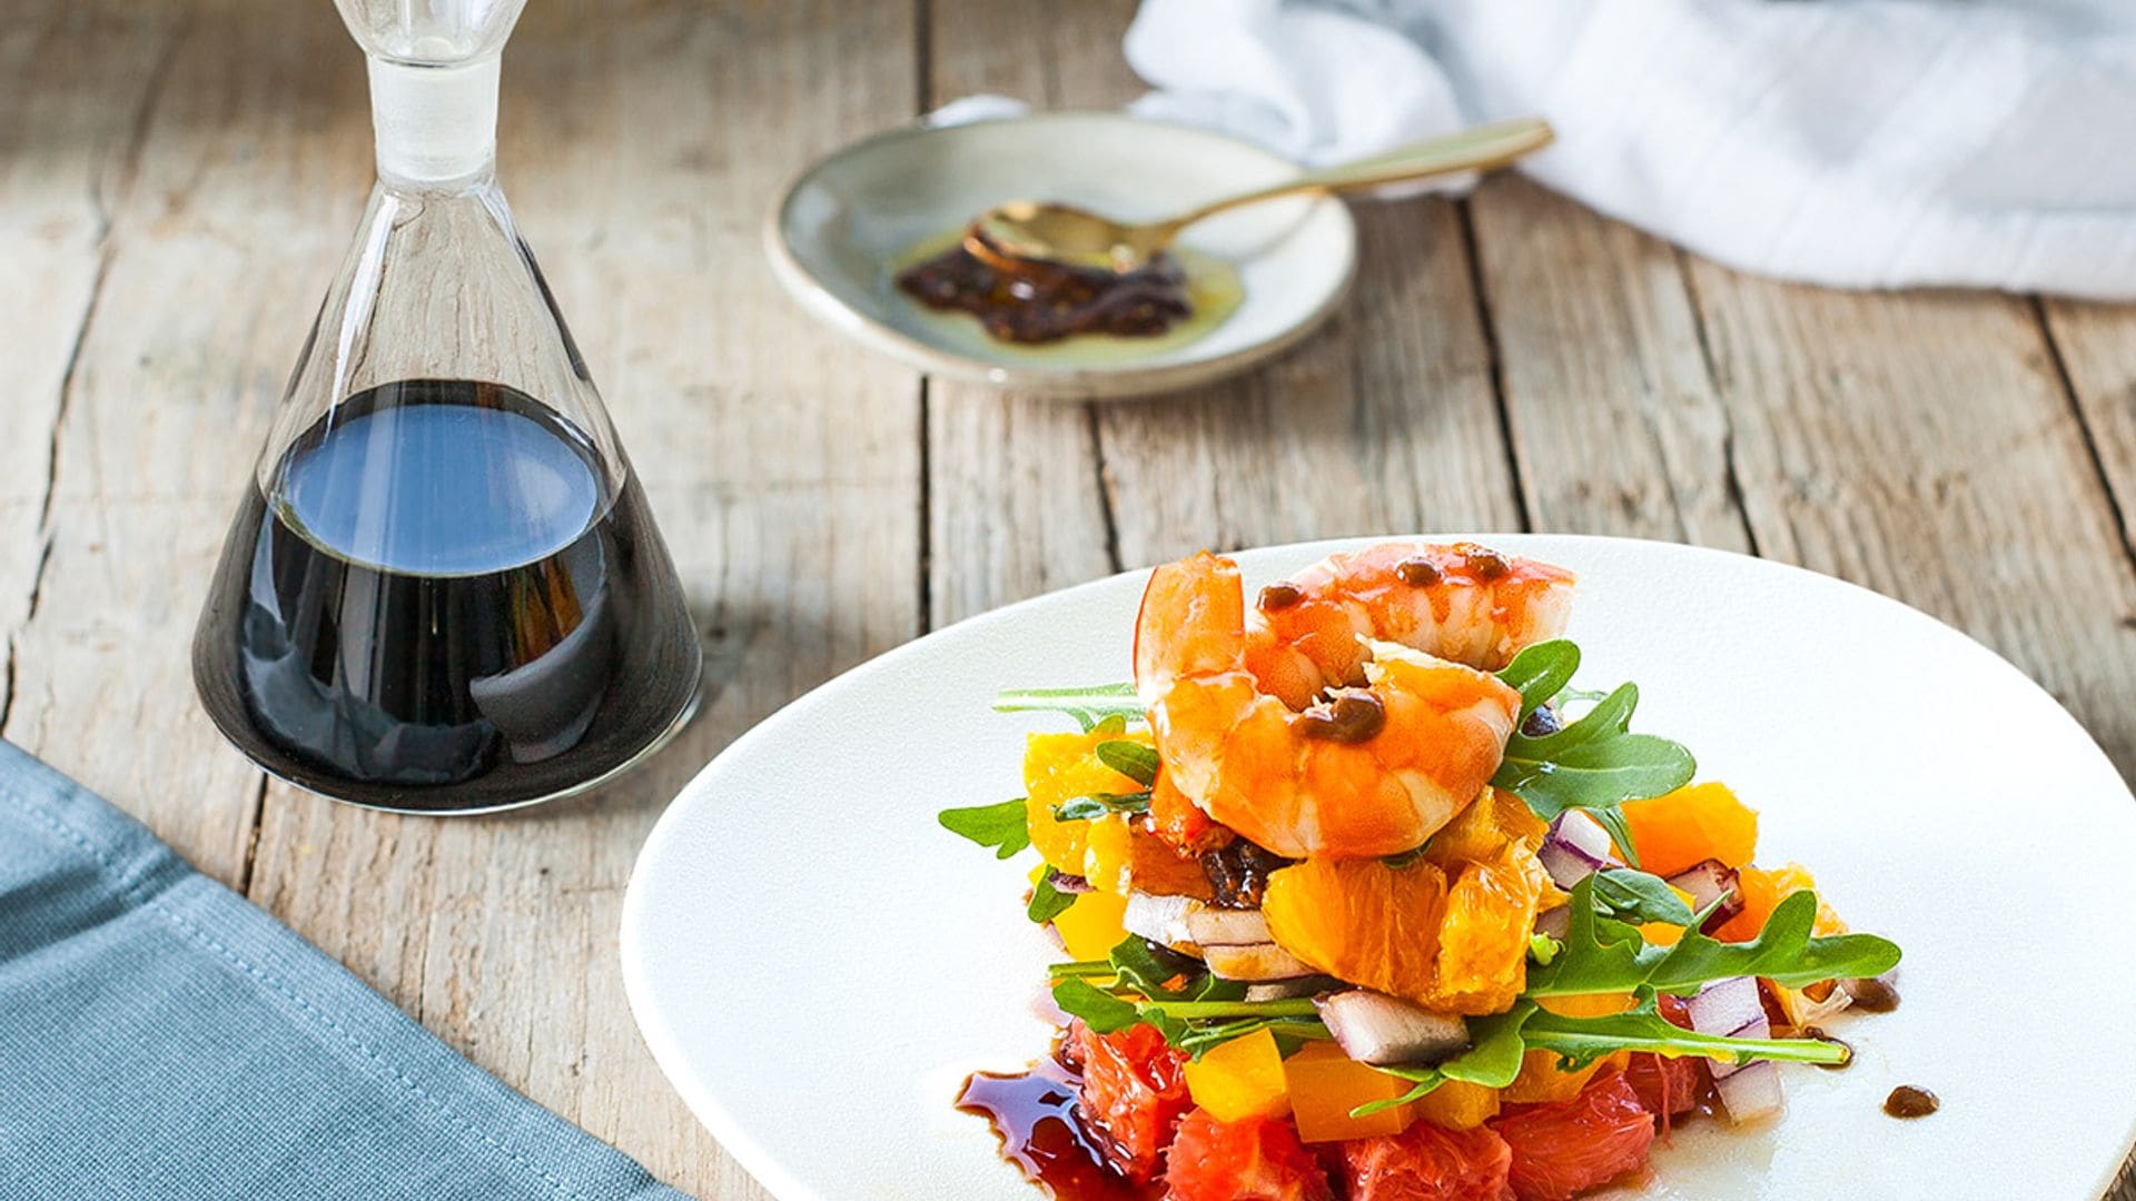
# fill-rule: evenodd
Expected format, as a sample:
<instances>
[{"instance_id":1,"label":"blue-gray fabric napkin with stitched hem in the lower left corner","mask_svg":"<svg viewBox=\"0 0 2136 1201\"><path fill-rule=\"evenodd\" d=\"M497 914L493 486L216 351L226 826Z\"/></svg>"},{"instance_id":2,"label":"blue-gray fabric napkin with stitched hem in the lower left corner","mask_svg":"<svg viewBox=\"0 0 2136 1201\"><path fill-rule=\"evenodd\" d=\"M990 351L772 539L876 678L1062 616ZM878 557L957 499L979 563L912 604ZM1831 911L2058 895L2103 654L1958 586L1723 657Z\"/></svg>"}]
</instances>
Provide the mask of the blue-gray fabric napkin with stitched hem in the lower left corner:
<instances>
[{"instance_id":1,"label":"blue-gray fabric napkin with stitched hem in the lower left corner","mask_svg":"<svg viewBox=\"0 0 2136 1201\"><path fill-rule=\"evenodd\" d=\"M0 1197L681 1195L0 742Z\"/></svg>"}]
</instances>

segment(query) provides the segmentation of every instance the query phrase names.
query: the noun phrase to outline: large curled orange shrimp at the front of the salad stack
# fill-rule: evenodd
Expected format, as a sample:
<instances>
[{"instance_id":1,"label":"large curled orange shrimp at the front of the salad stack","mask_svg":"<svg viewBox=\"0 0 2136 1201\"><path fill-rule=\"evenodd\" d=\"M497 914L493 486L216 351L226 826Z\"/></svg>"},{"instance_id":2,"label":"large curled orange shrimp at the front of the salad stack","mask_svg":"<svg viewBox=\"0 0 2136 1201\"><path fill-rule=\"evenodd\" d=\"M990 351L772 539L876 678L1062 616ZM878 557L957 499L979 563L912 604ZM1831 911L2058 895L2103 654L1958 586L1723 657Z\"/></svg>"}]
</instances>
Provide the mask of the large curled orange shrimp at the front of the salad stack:
<instances>
[{"instance_id":1,"label":"large curled orange shrimp at the front of the salad stack","mask_svg":"<svg viewBox=\"0 0 2136 1201\"><path fill-rule=\"evenodd\" d=\"M1420 846L1497 771L1521 697L1495 675L1373 643L1365 686L1292 709L1247 671L1239 566L1160 566L1134 680L1164 776L1211 818L1288 857Z\"/></svg>"}]
</instances>

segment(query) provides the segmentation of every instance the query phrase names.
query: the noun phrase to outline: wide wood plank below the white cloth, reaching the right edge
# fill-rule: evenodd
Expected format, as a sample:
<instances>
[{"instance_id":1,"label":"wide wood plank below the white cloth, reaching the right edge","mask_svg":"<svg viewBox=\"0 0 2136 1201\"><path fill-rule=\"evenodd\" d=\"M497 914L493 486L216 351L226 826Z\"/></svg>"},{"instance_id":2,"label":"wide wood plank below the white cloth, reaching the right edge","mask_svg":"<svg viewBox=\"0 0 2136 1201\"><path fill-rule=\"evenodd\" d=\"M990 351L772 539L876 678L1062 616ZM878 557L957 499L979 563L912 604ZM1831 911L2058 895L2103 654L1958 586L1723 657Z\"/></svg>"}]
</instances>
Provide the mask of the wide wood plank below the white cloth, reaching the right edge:
<instances>
[{"instance_id":1,"label":"wide wood plank below the white cloth, reaching the right edge","mask_svg":"<svg viewBox=\"0 0 2136 1201\"><path fill-rule=\"evenodd\" d=\"M1692 280L1758 549L1972 633L2136 767L2136 579L2031 303Z\"/></svg>"}]
</instances>

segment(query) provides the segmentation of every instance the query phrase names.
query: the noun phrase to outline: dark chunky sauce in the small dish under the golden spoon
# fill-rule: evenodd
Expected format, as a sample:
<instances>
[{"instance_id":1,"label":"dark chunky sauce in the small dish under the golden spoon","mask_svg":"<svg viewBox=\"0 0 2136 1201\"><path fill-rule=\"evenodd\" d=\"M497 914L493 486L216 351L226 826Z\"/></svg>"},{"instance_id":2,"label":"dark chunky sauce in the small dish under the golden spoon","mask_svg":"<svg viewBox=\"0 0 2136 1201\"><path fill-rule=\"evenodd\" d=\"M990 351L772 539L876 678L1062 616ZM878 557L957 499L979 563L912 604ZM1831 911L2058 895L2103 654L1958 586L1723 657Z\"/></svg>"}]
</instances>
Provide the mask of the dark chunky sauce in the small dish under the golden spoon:
<instances>
[{"instance_id":1,"label":"dark chunky sauce in the small dish under the golden spoon","mask_svg":"<svg viewBox=\"0 0 2136 1201\"><path fill-rule=\"evenodd\" d=\"M1188 274L1158 252L1134 271L1012 259L976 229L906 267L897 288L933 310L963 310L1002 342L1059 342L1072 333L1156 338L1188 316Z\"/></svg>"}]
</instances>

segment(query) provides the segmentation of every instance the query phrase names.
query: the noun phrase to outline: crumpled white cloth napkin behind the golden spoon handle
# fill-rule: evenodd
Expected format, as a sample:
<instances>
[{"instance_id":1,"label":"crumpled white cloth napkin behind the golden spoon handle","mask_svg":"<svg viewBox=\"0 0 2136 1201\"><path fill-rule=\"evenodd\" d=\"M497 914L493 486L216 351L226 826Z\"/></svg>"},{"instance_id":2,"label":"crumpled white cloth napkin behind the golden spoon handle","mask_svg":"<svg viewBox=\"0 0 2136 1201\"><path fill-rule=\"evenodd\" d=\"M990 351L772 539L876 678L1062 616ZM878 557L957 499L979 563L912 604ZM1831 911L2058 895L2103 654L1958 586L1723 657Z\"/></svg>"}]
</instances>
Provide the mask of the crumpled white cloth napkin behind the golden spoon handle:
<instances>
[{"instance_id":1,"label":"crumpled white cloth napkin behind the golden spoon handle","mask_svg":"<svg viewBox=\"0 0 2136 1201\"><path fill-rule=\"evenodd\" d=\"M1145 0L1126 51L1307 165L1540 113L1527 173L1747 271L2136 297L2136 0Z\"/></svg>"}]
</instances>

